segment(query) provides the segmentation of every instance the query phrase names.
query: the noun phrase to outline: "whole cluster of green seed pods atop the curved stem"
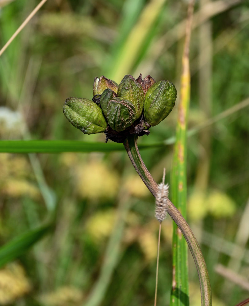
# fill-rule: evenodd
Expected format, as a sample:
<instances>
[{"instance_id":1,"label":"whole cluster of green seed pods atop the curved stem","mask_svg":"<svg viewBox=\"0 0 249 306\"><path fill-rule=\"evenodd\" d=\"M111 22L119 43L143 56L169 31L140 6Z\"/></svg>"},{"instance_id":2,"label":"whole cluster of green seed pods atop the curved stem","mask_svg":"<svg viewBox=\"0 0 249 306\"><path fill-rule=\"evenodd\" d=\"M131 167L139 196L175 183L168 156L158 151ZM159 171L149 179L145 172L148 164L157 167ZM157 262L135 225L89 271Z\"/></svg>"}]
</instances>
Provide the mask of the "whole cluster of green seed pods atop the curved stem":
<instances>
[{"instance_id":1,"label":"whole cluster of green seed pods atop the curved stem","mask_svg":"<svg viewBox=\"0 0 249 306\"><path fill-rule=\"evenodd\" d=\"M150 126L164 120L174 107L176 89L169 81L155 82L141 74L137 80L126 75L119 85L101 76L94 79L93 96L93 101L68 98L63 107L66 118L86 134L115 134L108 138L121 142L129 134L148 134Z\"/></svg>"}]
</instances>

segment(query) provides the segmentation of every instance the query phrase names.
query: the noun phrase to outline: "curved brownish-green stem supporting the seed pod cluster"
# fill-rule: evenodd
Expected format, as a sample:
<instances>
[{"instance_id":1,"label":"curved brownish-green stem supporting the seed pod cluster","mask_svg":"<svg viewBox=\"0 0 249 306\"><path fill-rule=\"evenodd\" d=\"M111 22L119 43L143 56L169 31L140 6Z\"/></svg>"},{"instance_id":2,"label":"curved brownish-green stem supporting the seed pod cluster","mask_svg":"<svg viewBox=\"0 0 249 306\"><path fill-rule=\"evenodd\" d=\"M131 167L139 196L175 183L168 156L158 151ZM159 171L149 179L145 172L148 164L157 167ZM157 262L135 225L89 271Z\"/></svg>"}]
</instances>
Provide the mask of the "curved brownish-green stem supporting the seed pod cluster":
<instances>
[{"instance_id":1,"label":"curved brownish-green stem supporting the seed pod cluster","mask_svg":"<svg viewBox=\"0 0 249 306\"><path fill-rule=\"evenodd\" d=\"M136 169L137 173L144 181L149 191L155 197L158 192L158 185L146 168L141 155L137 147L137 136L129 136L124 141L124 147L128 153L128 156L132 162L132 165ZM174 206L174 204L168 200L167 212L174 220L178 228L181 230L187 244L190 248L190 252L193 256L194 263L197 268L200 288L201 288L201 305L212 306L211 286L209 281L209 275L204 257L201 252L201 248L186 220L182 217L181 213Z\"/></svg>"}]
</instances>

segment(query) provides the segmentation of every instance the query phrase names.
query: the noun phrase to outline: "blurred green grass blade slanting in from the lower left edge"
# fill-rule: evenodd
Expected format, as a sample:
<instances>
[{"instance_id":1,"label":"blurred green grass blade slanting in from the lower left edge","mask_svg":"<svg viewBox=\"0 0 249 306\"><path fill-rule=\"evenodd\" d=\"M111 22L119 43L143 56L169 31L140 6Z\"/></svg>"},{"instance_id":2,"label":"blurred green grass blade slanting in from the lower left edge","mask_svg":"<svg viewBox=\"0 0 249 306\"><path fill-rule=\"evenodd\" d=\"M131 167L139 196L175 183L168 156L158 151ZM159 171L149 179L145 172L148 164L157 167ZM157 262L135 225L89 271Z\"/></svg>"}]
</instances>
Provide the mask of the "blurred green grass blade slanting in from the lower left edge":
<instances>
[{"instance_id":1,"label":"blurred green grass blade slanting in from the lower left edge","mask_svg":"<svg viewBox=\"0 0 249 306\"><path fill-rule=\"evenodd\" d=\"M33 244L51 230L51 226L41 226L13 238L0 248L0 267L24 254Z\"/></svg>"}]
</instances>

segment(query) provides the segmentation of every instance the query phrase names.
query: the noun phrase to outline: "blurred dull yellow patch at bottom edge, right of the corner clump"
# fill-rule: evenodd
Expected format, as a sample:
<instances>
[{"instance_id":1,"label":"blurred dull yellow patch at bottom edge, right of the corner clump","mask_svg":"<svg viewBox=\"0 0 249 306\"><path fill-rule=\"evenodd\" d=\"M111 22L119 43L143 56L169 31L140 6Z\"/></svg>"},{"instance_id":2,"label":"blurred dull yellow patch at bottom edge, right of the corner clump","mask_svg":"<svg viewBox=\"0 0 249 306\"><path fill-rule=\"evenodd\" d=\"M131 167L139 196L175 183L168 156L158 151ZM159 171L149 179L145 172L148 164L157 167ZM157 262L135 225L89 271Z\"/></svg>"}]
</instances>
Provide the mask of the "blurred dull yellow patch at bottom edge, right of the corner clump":
<instances>
[{"instance_id":1,"label":"blurred dull yellow patch at bottom edge, right of the corner clump","mask_svg":"<svg viewBox=\"0 0 249 306\"><path fill-rule=\"evenodd\" d=\"M54 292L43 294L40 300L49 306L68 306L82 303L82 292L74 287L64 286Z\"/></svg>"}]
</instances>

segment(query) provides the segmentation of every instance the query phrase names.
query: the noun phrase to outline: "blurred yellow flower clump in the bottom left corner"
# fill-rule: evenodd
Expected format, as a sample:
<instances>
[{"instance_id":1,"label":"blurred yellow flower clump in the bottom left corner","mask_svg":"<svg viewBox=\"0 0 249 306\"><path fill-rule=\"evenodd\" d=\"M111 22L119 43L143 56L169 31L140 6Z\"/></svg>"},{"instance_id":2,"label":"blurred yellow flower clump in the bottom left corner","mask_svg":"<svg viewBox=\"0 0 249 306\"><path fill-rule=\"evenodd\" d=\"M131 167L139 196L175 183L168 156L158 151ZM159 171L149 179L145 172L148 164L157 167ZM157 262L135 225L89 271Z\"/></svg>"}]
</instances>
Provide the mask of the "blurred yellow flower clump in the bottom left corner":
<instances>
[{"instance_id":1,"label":"blurred yellow flower clump in the bottom left corner","mask_svg":"<svg viewBox=\"0 0 249 306\"><path fill-rule=\"evenodd\" d=\"M21 265L11 263L0 270L0 305L13 303L30 290L31 285Z\"/></svg>"}]
</instances>

